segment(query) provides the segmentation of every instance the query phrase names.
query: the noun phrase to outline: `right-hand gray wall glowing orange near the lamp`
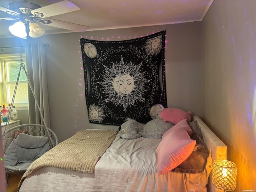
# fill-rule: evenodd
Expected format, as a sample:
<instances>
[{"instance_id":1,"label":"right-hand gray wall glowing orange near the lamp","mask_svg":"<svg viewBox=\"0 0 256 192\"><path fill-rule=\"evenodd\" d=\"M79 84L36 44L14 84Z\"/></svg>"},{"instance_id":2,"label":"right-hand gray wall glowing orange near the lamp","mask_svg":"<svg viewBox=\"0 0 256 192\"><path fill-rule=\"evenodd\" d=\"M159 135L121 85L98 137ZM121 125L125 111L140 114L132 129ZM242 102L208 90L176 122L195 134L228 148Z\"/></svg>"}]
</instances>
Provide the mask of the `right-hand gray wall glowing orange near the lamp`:
<instances>
[{"instance_id":1,"label":"right-hand gray wall glowing orange near the lamp","mask_svg":"<svg viewBox=\"0 0 256 192\"><path fill-rule=\"evenodd\" d=\"M256 1L214 0L202 21L202 118L256 190Z\"/></svg>"}]
</instances>

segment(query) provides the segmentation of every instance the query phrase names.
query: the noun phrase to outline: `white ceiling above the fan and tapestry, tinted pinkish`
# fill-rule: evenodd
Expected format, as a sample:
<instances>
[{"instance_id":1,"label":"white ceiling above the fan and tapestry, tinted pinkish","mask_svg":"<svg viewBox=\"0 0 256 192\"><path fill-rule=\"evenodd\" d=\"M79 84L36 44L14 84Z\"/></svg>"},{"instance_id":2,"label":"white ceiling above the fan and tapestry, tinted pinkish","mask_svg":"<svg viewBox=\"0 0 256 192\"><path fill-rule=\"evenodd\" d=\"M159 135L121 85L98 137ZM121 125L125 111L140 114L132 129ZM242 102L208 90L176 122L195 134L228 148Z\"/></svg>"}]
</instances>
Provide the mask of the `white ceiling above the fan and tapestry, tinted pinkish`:
<instances>
[{"instance_id":1,"label":"white ceiling above the fan and tapestry, tinted pinkish","mask_svg":"<svg viewBox=\"0 0 256 192\"><path fill-rule=\"evenodd\" d=\"M18 0L0 0L0 6ZM61 0L27 0L41 7ZM89 26L87 31L130 28L201 21L213 0L70 0L80 10L50 18ZM0 11L0 18L10 17ZM16 21L0 21L0 38L10 37L8 26ZM52 26L40 24L46 34L67 33Z\"/></svg>"}]
</instances>

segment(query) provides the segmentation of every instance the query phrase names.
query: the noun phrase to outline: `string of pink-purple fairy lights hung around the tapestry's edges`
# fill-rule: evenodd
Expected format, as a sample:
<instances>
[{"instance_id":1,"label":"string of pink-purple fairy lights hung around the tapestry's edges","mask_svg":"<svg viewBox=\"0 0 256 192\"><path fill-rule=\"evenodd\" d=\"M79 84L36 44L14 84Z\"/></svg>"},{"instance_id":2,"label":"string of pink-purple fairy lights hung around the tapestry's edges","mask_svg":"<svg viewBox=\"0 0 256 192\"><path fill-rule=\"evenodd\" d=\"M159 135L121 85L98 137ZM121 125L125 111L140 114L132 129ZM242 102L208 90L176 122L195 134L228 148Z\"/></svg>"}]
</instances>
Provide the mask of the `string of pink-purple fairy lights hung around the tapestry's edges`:
<instances>
[{"instance_id":1,"label":"string of pink-purple fairy lights hung around the tapestry's edges","mask_svg":"<svg viewBox=\"0 0 256 192\"><path fill-rule=\"evenodd\" d=\"M160 32L160 30L158 30L158 32ZM155 32L152 32L152 34L154 34ZM149 34L146 34L145 36L148 36ZM112 35L111 37L98 37L98 36L89 36L89 35L86 35L85 37L83 37L82 35L80 36L81 38L86 38L86 39L92 39L92 40L102 40L102 41L110 41L110 40L116 40L119 39L119 40L128 40L128 39L135 39L135 38L141 38L141 37L144 37L144 36L134 36L134 37L131 37L131 36L123 36L121 37L120 35L119 36L114 36ZM167 43L167 41L165 40L165 43ZM80 103L80 100L84 100L85 98L84 97L84 94L83 94L83 90L84 90L84 87L82 87L82 85L84 84L84 68L83 68L83 62L82 62L82 53L81 53L81 45L80 45L80 40L79 40L79 54L80 54L80 63L79 63L79 67L80 67L80 72L79 72L79 75L78 75L78 99L76 100L76 119L74 120L74 129L75 129L75 132L78 132L77 130L77 122L78 122L78 119L80 117L80 112L78 110L78 106L79 106L79 103ZM165 60L165 58L164 58Z\"/></svg>"}]
</instances>

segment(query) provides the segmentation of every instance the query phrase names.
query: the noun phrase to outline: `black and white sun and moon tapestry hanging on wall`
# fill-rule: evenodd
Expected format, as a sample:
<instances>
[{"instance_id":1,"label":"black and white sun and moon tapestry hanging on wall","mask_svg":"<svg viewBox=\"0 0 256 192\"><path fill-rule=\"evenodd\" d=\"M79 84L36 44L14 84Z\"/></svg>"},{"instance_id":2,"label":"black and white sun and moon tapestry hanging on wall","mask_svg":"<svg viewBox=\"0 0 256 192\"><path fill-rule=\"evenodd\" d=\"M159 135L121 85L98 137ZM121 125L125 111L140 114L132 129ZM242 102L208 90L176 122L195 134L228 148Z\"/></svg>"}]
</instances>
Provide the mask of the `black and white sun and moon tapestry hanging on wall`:
<instances>
[{"instance_id":1,"label":"black and white sun and moon tapestry hanging on wall","mask_svg":"<svg viewBox=\"0 0 256 192\"><path fill-rule=\"evenodd\" d=\"M167 107L165 30L123 41L81 38L90 123L121 125L126 118L146 123L155 104Z\"/></svg>"}]
</instances>

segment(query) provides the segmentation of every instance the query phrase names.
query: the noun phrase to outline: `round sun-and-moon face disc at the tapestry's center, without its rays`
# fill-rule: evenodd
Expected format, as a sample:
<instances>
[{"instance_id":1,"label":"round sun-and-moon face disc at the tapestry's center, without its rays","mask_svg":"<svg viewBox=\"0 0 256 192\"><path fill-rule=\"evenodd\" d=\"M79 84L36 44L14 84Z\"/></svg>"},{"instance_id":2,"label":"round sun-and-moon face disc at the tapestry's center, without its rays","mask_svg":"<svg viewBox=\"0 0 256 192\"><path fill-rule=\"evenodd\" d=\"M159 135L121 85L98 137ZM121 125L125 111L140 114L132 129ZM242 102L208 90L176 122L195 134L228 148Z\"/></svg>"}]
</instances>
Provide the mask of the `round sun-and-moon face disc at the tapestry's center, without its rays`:
<instances>
[{"instance_id":1,"label":"round sun-and-moon face disc at the tapestry's center, without its rays","mask_svg":"<svg viewBox=\"0 0 256 192\"><path fill-rule=\"evenodd\" d=\"M119 74L113 81L114 90L120 95L128 95L134 88L134 79L128 74Z\"/></svg>"}]
</instances>

